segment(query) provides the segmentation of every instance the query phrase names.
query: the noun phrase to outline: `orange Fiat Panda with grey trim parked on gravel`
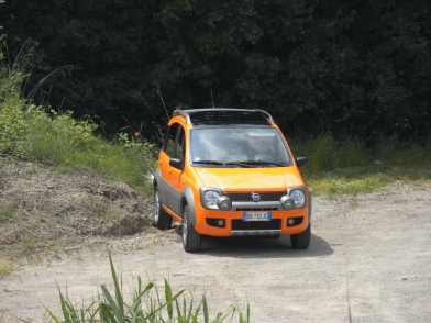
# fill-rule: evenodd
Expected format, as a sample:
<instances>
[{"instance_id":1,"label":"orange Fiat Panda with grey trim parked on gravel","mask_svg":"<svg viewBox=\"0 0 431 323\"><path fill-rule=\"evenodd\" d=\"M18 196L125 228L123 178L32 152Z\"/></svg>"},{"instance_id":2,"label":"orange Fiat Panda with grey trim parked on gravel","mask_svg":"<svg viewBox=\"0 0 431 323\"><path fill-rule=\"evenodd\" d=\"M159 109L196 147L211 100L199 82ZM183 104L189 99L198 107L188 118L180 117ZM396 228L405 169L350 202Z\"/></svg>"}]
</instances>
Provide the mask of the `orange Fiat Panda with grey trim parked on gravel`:
<instances>
[{"instance_id":1,"label":"orange Fiat Panda with grey trim parked on gravel","mask_svg":"<svg viewBox=\"0 0 431 323\"><path fill-rule=\"evenodd\" d=\"M154 225L181 223L183 245L198 252L202 235L290 235L310 244L311 194L294 158L263 110L176 110L154 176Z\"/></svg>"}]
</instances>

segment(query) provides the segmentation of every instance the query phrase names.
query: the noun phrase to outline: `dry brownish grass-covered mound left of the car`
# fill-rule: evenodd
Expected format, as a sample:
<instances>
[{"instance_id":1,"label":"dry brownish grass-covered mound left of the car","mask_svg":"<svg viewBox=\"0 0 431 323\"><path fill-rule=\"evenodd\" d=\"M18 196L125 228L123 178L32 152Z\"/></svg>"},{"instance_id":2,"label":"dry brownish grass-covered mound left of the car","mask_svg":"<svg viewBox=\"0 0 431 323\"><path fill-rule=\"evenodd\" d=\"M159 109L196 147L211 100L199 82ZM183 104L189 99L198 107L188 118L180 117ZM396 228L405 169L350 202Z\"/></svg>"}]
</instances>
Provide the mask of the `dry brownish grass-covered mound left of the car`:
<instances>
[{"instance_id":1,"label":"dry brownish grass-covered mound left of the car","mask_svg":"<svg viewBox=\"0 0 431 323\"><path fill-rule=\"evenodd\" d=\"M151 225L152 201L90 170L0 158L0 259L55 256L86 236L122 236ZM0 263L10 270L9 260ZM9 269L8 269L9 268Z\"/></svg>"}]
</instances>

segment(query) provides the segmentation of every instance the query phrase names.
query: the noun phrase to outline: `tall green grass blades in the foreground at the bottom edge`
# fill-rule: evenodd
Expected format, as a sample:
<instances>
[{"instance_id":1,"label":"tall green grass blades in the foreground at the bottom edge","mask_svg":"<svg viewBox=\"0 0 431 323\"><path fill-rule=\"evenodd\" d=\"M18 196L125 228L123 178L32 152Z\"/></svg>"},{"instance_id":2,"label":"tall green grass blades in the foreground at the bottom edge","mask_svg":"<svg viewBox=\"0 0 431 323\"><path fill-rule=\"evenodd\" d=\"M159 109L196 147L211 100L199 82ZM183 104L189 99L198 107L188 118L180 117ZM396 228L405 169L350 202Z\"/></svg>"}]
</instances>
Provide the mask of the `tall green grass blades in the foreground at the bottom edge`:
<instances>
[{"instance_id":1,"label":"tall green grass blades in the foreground at the bottom edge","mask_svg":"<svg viewBox=\"0 0 431 323\"><path fill-rule=\"evenodd\" d=\"M104 285L100 286L98 296L89 304L74 304L67 293L64 294L59 288L59 302L62 316L55 315L52 310L45 307L49 322L60 323L158 323L158 322L232 322L237 316L240 323L250 322L250 307L244 311L237 311L230 307L225 313L218 312L216 318L210 320L208 302L205 297L199 303L194 303L192 293L187 294L186 290L174 293L168 281L164 283L164 299L159 296L157 286L151 281L145 287L137 277L136 290L132 293L128 302L122 290L121 277L119 278L114 269L112 257L109 254L111 276L114 291L111 292Z\"/></svg>"}]
</instances>

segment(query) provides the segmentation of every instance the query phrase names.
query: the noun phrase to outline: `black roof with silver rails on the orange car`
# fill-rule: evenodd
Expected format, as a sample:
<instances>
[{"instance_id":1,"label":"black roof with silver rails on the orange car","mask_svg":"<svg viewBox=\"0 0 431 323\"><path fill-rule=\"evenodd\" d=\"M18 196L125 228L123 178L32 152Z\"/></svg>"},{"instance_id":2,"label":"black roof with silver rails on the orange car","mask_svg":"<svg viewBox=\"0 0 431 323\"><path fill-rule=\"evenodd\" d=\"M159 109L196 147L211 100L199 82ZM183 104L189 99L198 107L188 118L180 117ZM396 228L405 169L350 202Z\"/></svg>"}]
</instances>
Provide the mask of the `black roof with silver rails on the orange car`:
<instances>
[{"instance_id":1,"label":"black roof with silver rails on the orange car","mask_svg":"<svg viewBox=\"0 0 431 323\"><path fill-rule=\"evenodd\" d=\"M186 123L196 125L253 124L270 125L273 116L259 109L205 108L175 110L173 116L183 115Z\"/></svg>"}]
</instances>

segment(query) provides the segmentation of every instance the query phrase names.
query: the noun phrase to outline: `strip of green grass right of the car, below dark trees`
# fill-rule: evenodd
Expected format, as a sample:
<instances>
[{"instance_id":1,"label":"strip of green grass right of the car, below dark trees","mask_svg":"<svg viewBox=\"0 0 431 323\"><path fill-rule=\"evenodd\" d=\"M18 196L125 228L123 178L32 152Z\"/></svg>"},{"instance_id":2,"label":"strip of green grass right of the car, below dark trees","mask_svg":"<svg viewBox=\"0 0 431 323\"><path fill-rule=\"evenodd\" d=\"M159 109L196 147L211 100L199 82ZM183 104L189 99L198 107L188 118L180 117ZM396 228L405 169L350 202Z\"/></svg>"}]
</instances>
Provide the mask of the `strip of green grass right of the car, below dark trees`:
<instances>
[{"instance_id":1,"label":"strip of green grass right of the car, below dark trees","mask_svg":"<svg viewBox=\"0 0 431 323\"><path fill-rule=\"evenodd\" d=\"M301 168L313 193L374 192L399 181L431 179L431 143L407 143L396 137L365 142L357 137L321 134L290 141L296 156L307 156Z\"/></svg>"}]
</instances>

